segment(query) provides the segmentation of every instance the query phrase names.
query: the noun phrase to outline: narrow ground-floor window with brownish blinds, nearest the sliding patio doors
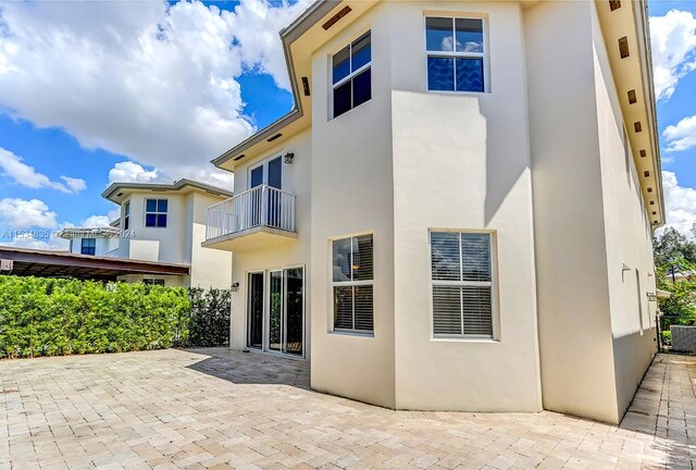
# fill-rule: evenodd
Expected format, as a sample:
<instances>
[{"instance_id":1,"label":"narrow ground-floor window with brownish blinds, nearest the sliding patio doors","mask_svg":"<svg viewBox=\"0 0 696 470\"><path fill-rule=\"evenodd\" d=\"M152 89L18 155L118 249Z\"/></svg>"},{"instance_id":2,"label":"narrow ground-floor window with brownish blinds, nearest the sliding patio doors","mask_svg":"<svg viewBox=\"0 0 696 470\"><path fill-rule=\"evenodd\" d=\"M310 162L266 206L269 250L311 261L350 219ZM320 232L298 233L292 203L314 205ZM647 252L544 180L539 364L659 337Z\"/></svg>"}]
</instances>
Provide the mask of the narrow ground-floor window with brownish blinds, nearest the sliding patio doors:
<instances>
[{"instance_id":1,"label":"narrow ground-floor window with brownish blinds, nearest the sliding patio doors","mask_svg":"<svg viewBox=\"0 0 696 470\"><path fill-rule=\"evenodd\" d=\"M371 333L373 312L372 235L333 242L334 331Z\"/></svg>"}]
</instances>

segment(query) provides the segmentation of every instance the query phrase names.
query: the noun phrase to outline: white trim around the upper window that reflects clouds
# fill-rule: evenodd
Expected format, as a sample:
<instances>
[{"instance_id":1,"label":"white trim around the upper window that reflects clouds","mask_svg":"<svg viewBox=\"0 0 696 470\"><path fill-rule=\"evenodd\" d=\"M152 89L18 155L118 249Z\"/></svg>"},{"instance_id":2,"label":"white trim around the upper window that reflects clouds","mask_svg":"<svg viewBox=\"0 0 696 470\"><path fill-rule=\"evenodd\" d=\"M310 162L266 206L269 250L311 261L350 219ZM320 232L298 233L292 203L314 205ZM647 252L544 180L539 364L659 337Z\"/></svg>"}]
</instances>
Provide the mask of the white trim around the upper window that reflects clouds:
<instances>
[{"instance_id":1,"label":"white trim around the upper window that reflects clouds","mask_svg":"<svg viewBox=\"0 0 696 470\"><path fill-rule=\"evenodd\" d=\"M427 18L451 18L452 20L452 34L456 35L456 21L455 20L481 20L483 24L483 52L457 52L457 51L430 51L427 50ZM455 36L456 37L456 36ZM490 51L489 51L489 39L488 39L488 17L486 15L478 14L468 14L468 13L452 13L452 12L427 12L423 15L423 39L424 39L424 49L425 49L425 91L431 94L450 94L450 95L473 95L480 96L490 92ZM468 91L468 90L432 90L430 89L430 83L427 79L427 58L428 57L440 57L440 58L481 58L483 59L483 91ZM457 70L455 69L455 88L457 88Z\"/></svg>"}]
</instances>

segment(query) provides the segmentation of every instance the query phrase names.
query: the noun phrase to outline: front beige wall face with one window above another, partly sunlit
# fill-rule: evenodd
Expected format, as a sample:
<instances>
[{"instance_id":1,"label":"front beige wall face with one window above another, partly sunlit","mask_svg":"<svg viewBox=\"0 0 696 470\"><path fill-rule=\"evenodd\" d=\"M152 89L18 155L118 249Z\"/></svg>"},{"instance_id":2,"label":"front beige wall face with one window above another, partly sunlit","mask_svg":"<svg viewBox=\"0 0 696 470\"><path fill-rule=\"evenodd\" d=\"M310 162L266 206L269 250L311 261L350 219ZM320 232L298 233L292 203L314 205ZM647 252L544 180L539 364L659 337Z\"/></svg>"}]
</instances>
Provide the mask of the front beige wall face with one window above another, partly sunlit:
<instances>
[{"instance_id":1,"label":"front beige wall face with one window above another, partly sunlit","mask_svg":"<svg viewBox=\"0 0 696 470\"><path fill-rule=\"evenodd\" d=\"M487 16L490 92L426 91L424 11ZM408 2L390 13L396 406L538 411L521 9L514 2ZM494 232L495 341L432 337L432 228Z\"/></svg>"}]
</instances>

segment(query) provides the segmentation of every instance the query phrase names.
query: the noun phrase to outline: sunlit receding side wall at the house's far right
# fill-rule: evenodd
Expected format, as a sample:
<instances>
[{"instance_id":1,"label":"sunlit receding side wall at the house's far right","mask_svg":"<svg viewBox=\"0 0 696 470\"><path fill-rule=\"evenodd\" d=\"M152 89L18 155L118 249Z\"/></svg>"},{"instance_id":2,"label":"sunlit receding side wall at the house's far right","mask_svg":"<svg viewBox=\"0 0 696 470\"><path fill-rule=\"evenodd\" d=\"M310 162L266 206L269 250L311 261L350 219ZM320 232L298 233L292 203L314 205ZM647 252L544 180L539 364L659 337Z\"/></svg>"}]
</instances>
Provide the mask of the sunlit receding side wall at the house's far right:
<instances>
[{"instance_id":1,"label":"sunlit receding side wall at the house's far right","mask_svg":"<svg viewBox=\"0 0 696 470\"><path fill-rule=\"evenodd\" d=\"M592 13L607 276L620 419L656 352L656 304L647 297L648 292L655 293L655 270L650 224L638 182L644 175L636 171L630 143L624 144L624 122L607 48L596 10Z\"/></svg>"}]
</instances>

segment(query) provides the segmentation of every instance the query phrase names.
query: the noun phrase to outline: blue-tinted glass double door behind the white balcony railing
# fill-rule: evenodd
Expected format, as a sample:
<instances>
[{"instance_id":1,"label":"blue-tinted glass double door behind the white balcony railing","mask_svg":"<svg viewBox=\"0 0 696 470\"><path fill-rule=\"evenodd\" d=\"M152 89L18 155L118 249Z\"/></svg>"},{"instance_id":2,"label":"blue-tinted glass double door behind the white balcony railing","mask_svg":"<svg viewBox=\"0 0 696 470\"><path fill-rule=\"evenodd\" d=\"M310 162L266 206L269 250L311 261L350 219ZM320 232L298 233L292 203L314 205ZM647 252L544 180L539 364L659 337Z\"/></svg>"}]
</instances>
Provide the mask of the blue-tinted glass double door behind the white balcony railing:
<instances>
[{"instance_id":1,"label":"blue-tinted glass double door behind the white balcony railing","mask_svg":"<svg viewBox=\"0 0 696 470\"><path fill-rule=\"evenodd\" d=\"M249 172L249 189L261 185L272 188L283 188L283 159L276 157L259 163ZM264 202L265 201L265 202ZM281 223L281 194L278 191L263 190L254 193L251 197L252 225L279 226Z\"/></svg>"}]
</instances>

